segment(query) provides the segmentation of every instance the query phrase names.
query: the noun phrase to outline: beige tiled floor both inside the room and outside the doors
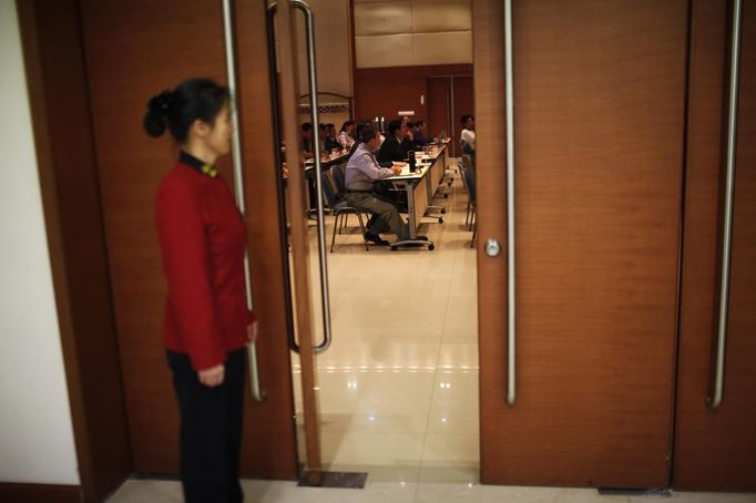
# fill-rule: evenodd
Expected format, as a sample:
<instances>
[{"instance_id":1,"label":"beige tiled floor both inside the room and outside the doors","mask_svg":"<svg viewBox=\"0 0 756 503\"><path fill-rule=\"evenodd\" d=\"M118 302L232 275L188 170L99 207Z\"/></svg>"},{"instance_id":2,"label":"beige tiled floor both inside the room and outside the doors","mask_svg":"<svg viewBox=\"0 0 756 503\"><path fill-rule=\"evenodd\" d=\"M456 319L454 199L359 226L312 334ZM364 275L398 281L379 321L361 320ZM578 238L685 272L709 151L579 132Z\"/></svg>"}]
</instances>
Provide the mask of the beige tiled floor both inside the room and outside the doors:
<instances>
[{"instance_id":1,"label":"beige tiled floor both inside the room and outside the doors","mask_svg":"<svg viewBox=\"0 0 756 503\"><path fill-rule=\"evenodd\" d=\"M323 461L327 470L368 472L365 490L245 480L246 502L667 501L604 496L589 489L479 484L476 252L462 226L462 191L458 179L448 199L437 198L449 211L443 224L425 220L421 226L436 242L433 252L366 253L353 234L337 236L328 254L334 342L317 361ZM755 503L756 494L675 492L671 499ZM181 486L127 481L109 501L180 502Z\"/></svg>"}]
</instances>

